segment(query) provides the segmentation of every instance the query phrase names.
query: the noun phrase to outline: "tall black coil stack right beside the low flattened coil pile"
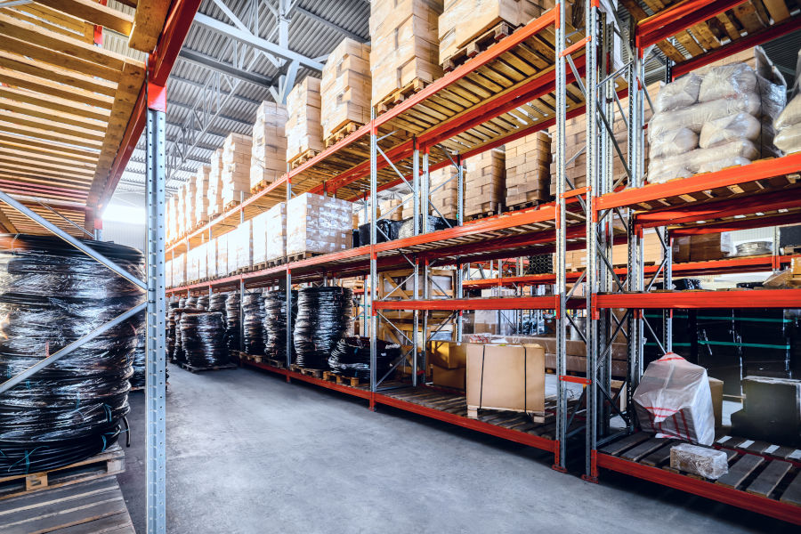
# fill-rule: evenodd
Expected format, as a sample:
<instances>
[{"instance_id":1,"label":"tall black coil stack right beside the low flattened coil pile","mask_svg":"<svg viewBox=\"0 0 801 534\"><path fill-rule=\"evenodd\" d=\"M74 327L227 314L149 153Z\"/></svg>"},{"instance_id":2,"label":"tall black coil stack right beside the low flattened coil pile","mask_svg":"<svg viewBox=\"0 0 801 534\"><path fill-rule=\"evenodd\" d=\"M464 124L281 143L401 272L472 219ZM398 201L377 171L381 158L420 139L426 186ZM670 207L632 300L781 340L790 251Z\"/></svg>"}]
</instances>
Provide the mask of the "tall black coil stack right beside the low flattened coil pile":
<instances>
[{"instance_id":1,"label":"tall black coil stack right beside the low flattened coil pile","mask_svg":"<svg viewBox=\"0 0 801 534\"><path fill-rule=\"evenodd\" d=\"M298 292L293 331L297 365L328 368L328 356L350 324L351 299L346 287L304 287Z\"/></svg>"}]
</instances>

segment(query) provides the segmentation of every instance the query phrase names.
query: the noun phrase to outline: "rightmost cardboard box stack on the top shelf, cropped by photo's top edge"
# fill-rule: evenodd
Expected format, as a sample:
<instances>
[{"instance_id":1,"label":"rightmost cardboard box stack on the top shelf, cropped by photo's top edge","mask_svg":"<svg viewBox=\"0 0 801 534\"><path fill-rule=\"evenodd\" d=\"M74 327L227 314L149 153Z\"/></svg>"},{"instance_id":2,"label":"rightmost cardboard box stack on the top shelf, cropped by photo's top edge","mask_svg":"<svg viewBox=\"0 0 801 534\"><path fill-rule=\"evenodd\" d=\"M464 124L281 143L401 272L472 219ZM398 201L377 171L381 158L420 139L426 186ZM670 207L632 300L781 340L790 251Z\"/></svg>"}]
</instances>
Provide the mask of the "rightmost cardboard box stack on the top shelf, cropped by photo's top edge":
<instances>
[{"instance_id":1,"label":"rightmost cardboard box stack on the top shelf, cropped by photo's top edge","mask_svg":"<svg viewBox=\"0 0 801 534\"><path fill-rule=\"evenodd\" d=\"M440 64L498 23L516 28L551 7L553 0L445 0L439 21Z\"/></svg>"}]
</instances>

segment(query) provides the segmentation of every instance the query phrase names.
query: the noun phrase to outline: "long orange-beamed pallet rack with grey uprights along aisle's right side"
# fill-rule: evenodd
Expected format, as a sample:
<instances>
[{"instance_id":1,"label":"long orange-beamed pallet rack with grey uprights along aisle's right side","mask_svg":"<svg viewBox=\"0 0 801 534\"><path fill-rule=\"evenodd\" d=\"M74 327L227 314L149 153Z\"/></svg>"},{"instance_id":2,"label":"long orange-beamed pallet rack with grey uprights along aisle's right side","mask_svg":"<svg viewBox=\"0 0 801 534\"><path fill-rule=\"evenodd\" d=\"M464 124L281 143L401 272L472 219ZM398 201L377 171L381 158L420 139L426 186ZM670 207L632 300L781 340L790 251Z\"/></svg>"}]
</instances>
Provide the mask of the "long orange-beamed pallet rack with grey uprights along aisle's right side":
<instances>
[{"instance_id":1,"label":"long orange-beamed pallet rack with grey uprights along aisle's right side","mask_svg":"<svg viewBox=\"0 0 801 534\"><path fill-rule=\"evenodd\" d=\"M675 274L775 269L791 259L773 255L672 265L670 239L693 232L798 222L801 220L801 195L795 194L799 192L799 184L794 176L801 171L801 155L755 162L680 181L643 185L643 116L648 101L644 92L644 66L654 60L653 46L669 59L668 72L679 76L727 53L739 52L801 27L801 17L797 10L793 11L795 8L772 3L773 22L769 17L759 28L751 25L736 34L730 32L722 40L716 37L714 45L707 41L708 48L697 45L693 49L683 43L688 36L692 39L686 34L686 28L705 28L705 20L729 17L727 10L742 3L742 0L684 0L654 8L656 14L649 17L635 0L626 0L622 4L635 21L630 46L615 38L622 24L616 16L607 17L597 1L587 2L585 28L578 31L564 23L565 5L557 4L554 10L519 28L407 101L383 115L374 116L368 125L288 171L265 190L171 244L167 251L171 255L185 253L276 203L306 191L363 200L371 222L369 245L220 279L196 281L173 287L168 293L190 294L224 288L239 288L244 292L247 287L282 285L289 288L297 283L365 277L363 318L365 323L369 322L373 347L368 386L336 384L290 370L288 346L286 366L255 361L244 363L286 376L287 380L300 380L360 397L368 401L371 409L377 404L393 406L551 451L554 468L561 471L565 468L569 441L575 442L584 434L584 477L589 481L597 481L599 468L603 467L786 521L801 522L798 514L789 513L797 509L785 503L772 500L765 505L745 491L720 490L714 484L710 488L703 485L708 484L706 481L688 481L688 477L681 474L654 476L644 466L638 467L633 462L623 464L626 460L611 459L600 452L624 434L633 432L635 427L633 412L611 408L616 396L611 394L610 347L611 340L625 332L629 340L625 382L630 396L643 373L643 332L649 328L643 319L644 308L710 307L715 301L716 305L725 303L727 307L735 303L786 306L801 300L801 290L796 289L742 290L724 294L651 291L657 278L669 284ZM667 3L660 5L664 4ZM779 7L785 8L786 17ZM773 9L779 11L774 13ZM688 52L680 51L674 44L672 36L678 34L681 34L678 42L683 43L683 50ZM628 57L631 58L622 67L611 63L614 48L620 45L629 47ZM629 93L631 87L635 91ZM623 96L628 96L625 109L620 101ZM576 187L565 175L569 163L565 123L568 118L581 115L587 117L587 185ZM611 135L616 116L627 125L625 153ZM459 182L457 225L447 230L428 231L425 215L436 214L427 201L431 191L430 171L453 165L460 179L461 162L465 158L549 126L556 128L554 142L557 143L557 194L553 203L467 223L462 217L464 191ZM625 176L613 175L615 158L622 160ZM376 235L376 195L396 185L404 185L411 193L416 221L414 235L381 242ZM615 217L622 223L624 232L612 224ZM697 223L700 220L705 222L704 226ZM642 229L646 227L658 229L663 247L662 261L656 266L643 266ZM614 269L611 245L621 241L628 244L627 267ZM584 271L565 270L564 255L571 249L587 250ZM556 258L554 274L499 280L465 279L465 267L469 271L470 263L551 253ZM430 297L432 282L428 271L443 265L457 267L457 298L449 301ZM399 268L412 270L413 298L402 302L380 300L374 290L377 273ZM587 291L586 296L578 298L573 295L573 288L581 282L587 284ZM553 294L464 298L466 288L544 284L554 285ZM287 298L290 295L287 291ZM611 313L612 308L627 308L628 312L621 320ZM465 417L458 401L441 405L446 409L413 401L415 394L437 394L434 388L419 382L418 370L427 363L425 341L429 328L441 328L444 322L449 322L454 339L461 340L462 312L480 309L555 312L557 396L552 432L539 433L541 429L537 425L521 424L525 431L520 430L521 425L509 428L498 425L497 417L470 419ZM412 369L410 384L386 382L386 376L376 376L376 333L380 324L392 325L383 313L387 310L413 312L415 335L407 337L409 352L401 360ZM432 325L429 312L433 310L451 312L449 319ZM579 327L577 312L586 314L586 326ZM663 345L669 350L669 313L664 317ZM566 373L568 326L580 331L587 343L587 373L583 377ZM287 328L291 329L288 320ZM418 344L421 332L424 343ZM417 353L421 356L419 359ZM570 387L581 388L580 401L568 402ZM630 401L627 406L632 406ZM626 421L623 432L612 431L613 415ZM571 449L570 454L575 450ZM736 492L736 498L731 498L732 491Z\"/></svg>"}]
</instances>

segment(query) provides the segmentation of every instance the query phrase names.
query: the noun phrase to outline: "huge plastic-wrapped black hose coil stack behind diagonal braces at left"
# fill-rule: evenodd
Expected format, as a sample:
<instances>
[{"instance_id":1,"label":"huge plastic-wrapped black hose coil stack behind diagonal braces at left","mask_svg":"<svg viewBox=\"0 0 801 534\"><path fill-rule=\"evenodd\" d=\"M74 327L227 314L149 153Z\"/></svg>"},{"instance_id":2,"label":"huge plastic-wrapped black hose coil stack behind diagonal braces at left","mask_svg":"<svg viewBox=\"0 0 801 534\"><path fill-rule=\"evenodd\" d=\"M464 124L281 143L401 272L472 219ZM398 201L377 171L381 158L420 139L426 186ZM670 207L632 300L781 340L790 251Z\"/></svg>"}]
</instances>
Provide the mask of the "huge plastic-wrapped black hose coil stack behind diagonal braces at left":
<instances>
[{"instance_id":1,"label":"huge plastic-wrapped black hose coil stack behind diagonal braces at left","mask_svg":"<svg viewBox=\"0 0 801 534\"><path fill-rule=\"evenodd\" d=\"M144 278L138 250L85 245ZM19 375L144 298L140 287L61 239L0 236L0 376ZM0 393L0 476L74 464L117 441L140 320L110 328Z\"/></svg>"}]
</instances>

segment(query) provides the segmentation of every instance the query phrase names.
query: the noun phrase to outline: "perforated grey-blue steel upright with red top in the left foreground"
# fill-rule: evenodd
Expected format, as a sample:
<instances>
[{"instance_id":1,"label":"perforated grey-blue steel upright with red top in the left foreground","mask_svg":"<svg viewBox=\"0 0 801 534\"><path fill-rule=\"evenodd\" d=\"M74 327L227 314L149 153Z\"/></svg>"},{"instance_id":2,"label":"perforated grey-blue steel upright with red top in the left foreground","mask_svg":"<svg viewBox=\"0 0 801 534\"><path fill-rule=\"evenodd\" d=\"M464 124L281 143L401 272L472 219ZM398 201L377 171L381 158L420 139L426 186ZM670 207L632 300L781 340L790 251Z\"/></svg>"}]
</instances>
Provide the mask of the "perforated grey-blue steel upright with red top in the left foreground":
<instances>
[{"instance_id":1,"label":"perforated grey-blue steel upright with red top in the left foreground","mask_svg":"<svg viewBox=\"0 0 801 534\"><path fill-rule=\"evenodd\" d=\"M166 295L164 279L166 87L148 85L148 305L145 387L147 531L166 533Z\"/></svg>"}]
</instances>

